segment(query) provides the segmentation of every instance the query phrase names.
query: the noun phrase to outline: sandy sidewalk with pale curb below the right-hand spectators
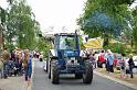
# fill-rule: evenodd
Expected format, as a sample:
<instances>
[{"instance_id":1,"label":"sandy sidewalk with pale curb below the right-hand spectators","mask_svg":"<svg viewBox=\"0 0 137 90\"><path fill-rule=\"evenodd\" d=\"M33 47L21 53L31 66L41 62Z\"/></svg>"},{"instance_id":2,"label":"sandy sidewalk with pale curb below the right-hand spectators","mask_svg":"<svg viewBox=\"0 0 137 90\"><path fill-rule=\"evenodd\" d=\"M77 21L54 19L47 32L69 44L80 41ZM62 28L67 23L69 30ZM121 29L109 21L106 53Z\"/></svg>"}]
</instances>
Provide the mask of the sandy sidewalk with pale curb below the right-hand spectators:
<instances>
[{"instance_id":1,"label":"sandy sidewalk with pale curb below the right-hand spectators","mask_svg":"<svg viewBox=\"0 0 137 90\"><path fill-rule=\"evenodd\" d=\"M125 79L120 78L120 71L119 70L115 70L114 74L109 75L105 70L105 68L97 68L97 69L94 70L94 74L96 74L101 77L114 80L118 83L122 83L124 86L127 86L127 87L130 87L130 88L137 90L137 74L134 75L133 79L130 79L129 75Z\"/></svg>"}]
</instances>

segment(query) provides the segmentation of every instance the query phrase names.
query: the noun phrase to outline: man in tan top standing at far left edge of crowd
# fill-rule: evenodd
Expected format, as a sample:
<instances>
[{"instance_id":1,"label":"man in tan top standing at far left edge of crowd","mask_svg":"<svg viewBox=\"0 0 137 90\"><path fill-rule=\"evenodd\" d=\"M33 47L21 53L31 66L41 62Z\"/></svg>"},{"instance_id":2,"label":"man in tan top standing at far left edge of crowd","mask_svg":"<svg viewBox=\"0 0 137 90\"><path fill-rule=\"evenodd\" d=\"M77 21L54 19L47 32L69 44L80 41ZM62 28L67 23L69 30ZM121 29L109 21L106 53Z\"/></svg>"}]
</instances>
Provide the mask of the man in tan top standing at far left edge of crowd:
<instances>
[{"instance_id":1,"label":"man in tan top standing at far left edge of crowd","mask_svg":"<svg viewBox=\"0 0 137 90\"><path fill-rule=\"evenodd\" d=\"M3 61L3 78L8 78L8 61L10 59L10 53L7 50L7 48L4 48L4 50L2 52L2 61Z\"/></svg>"}]
</instances>

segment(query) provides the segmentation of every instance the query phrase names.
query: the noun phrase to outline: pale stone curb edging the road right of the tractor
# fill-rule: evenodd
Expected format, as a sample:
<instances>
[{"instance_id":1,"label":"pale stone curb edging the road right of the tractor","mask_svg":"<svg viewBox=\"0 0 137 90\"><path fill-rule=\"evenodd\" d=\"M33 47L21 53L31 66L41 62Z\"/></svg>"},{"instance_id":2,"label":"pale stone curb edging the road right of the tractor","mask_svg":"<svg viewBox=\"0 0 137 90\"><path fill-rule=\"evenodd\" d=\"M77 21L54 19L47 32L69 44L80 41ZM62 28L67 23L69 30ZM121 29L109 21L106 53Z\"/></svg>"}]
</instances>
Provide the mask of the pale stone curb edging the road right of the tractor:
<instances>
[{"instance_id":1,"label":"pale stone curb edging the road right of the tractor","mask_svg":"<svg viewBox=\"0 0 137 90\"><path fill-rule=\"evenodd\" d=\"M136 86L136 85L133 85L133 83L129 83L129 82L119 80L119 79L117 79L117 78L114 78L114 77L110 77L110 76L101 74L101 72L95 71L95 70L94 70L94 74L95 74L95 75L98 75L98 76L101 76L101 77L107 78L107 79L109 79L109 80L116 81L116 82L118 82L118 83L120 83L120 85L124 85L124 86L127 86L127 87L129 87L129 88L133 88L133 89L137 90L137 86Z\"/></svg>"}]
</instances>

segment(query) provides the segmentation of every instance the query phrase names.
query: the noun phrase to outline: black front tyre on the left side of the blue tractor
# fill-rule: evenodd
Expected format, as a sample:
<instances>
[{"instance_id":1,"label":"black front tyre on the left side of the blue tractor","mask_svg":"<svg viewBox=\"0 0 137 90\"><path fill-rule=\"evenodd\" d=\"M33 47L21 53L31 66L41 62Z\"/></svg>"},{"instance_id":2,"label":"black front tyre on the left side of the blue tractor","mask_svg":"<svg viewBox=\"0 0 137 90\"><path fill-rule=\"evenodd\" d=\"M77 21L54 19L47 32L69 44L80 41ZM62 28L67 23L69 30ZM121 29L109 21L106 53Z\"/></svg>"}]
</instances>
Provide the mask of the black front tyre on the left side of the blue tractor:
<instances>
[{"instance_id":1,"label":"black front tyre on the left side of the blue tractor","mask_svg":"<svg viewBox=\"0 0 137 90\"><path fill-rule=\"evenodd\" d=\"M60 76L59 76L59 70L57 70L57 68L53 68L52 69L52 71L51 71L51 79L52 79L52 83L54 83L54 85L57 85L59 83L59 78Z\"/></svg>"}]
</instances>

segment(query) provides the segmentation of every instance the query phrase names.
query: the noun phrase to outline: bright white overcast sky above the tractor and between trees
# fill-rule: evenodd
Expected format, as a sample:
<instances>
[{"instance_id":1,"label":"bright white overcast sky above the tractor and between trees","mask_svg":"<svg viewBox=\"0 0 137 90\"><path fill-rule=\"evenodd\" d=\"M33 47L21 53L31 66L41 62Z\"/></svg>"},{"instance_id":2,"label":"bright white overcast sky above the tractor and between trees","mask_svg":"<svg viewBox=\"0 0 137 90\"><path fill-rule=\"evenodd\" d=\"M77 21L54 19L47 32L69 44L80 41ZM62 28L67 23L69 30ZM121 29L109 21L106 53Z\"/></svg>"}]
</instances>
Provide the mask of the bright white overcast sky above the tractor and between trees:
<instances>
[{"instance_id":1,"label":"bright white overcast sky above the tractor and between trees","mask_svg":"<svg viewBox=\"0 0 137 90\"><path fill-rule=\"evenodd\" d=\"M0 0L0 5L6 8L7 0ZM63 26L65 31L77 29L76 19L83 13L86 0L27 0L41 24L42 32L60 32ZM131 7L136 5L133 4ZM53 27L53 31L50 30Z\"/></svg>"}]
</instances>

